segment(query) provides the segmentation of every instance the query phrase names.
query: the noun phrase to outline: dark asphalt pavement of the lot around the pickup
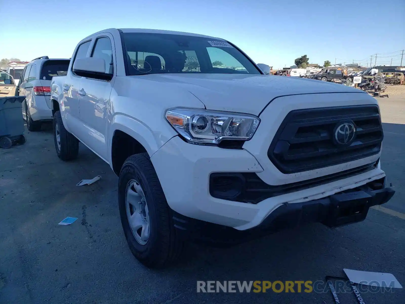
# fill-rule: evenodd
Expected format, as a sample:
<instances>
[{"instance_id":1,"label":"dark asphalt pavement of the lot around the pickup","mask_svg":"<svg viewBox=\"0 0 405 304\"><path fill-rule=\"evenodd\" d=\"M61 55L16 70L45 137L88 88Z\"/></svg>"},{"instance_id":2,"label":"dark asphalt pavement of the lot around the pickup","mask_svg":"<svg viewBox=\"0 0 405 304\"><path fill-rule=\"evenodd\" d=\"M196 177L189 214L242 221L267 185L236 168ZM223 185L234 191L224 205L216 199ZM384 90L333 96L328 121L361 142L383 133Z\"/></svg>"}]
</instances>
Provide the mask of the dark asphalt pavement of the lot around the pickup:
<instances>
[{"instance_id":1,"label":"dark asphalt pavement of the lot around the pickup","mask_svg":"<svg viewBox=\"0 0 405 304\"><path fill-rule=\"evenodd\" d=\"M379 103L382 167L397 191L384 209L333 230L314 224L233 248L192 245L161 271L127 247L109 166L83 146L77 161L62 163L50 127L27 133L26 145L0 150L0 303L333 303L329 293L202 294L196 281L316 281L343 268L391 272L405 287L405 96ZM96 175L92 186L75 186ZM57 225L66 216L79 219ZM364 295L367 304L404 298L405 289Z\"/></svg>"}]
</instances>

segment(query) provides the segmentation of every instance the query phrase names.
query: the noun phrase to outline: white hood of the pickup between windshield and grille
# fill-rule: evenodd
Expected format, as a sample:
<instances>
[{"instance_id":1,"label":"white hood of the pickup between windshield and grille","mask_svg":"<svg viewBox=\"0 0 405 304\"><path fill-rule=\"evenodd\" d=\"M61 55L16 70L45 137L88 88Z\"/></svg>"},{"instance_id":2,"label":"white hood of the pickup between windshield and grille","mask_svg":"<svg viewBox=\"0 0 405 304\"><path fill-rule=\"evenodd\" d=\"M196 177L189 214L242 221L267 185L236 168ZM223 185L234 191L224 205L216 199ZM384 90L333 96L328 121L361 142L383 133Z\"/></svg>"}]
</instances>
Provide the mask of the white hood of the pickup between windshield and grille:
<instances>
[{"instance_id":1,"label":"white hood of the pickup between windshield and grille","mask_svg":"<svg viewBox=\"0 0 405 304\"><path fill-rule=\"evenodd\" d=\"M326 81L273 75L245 74L148 74L142 79L177 86L196 96L207 109L258 115L278 96L362 92ZM159 87L157 84L156 87Z\"/></svg>"}]
</instances>

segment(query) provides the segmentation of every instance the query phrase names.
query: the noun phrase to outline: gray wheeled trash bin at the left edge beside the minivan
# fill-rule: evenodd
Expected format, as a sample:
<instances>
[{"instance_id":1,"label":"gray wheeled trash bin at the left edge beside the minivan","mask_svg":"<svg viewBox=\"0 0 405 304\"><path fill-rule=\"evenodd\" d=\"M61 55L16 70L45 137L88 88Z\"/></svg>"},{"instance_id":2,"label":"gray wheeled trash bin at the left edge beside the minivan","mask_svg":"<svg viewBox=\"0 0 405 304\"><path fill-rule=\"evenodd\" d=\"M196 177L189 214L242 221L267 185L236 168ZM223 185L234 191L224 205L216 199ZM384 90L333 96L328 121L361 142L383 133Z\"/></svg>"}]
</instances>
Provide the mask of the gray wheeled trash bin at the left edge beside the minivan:
<instances>
[{"instance_id":1,"label":"gray wheeled trash bin at the left edge beside the minivan","mask_svg":"<svg viewBox=\"0 0 405 304\"><path fill-rule=\"evenodd\" d=\"M26 96L0 97L0 148L8 149L13 143L24 144L24 120L21 103Z\"/></svg>"}]
</instances>

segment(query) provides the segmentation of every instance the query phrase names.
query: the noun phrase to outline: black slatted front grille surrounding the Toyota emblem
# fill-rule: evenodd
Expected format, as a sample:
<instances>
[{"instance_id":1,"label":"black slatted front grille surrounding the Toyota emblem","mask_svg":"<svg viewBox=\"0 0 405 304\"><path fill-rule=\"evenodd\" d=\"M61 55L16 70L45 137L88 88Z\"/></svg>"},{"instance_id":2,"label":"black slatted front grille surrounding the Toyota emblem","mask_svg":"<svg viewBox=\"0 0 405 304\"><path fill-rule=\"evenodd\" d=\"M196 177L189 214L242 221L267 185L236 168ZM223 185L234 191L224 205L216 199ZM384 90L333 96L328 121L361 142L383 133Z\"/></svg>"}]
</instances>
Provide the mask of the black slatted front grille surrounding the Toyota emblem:
<instances>
[{"instance_id":1,"label":"black slatted front grille surrounding the Toyota emblem","mask_svg":"<svg viewBox=\"0 0 405 304\"><path fill-rule=\"evenodd\" d=\"M352 140L344 136L346 144L336 140L345 123L355 127ZM383 137L377 105L295 110L281 123L267 155L282 173L296 173L378 154Z\"/></svg>"}]
</instances>

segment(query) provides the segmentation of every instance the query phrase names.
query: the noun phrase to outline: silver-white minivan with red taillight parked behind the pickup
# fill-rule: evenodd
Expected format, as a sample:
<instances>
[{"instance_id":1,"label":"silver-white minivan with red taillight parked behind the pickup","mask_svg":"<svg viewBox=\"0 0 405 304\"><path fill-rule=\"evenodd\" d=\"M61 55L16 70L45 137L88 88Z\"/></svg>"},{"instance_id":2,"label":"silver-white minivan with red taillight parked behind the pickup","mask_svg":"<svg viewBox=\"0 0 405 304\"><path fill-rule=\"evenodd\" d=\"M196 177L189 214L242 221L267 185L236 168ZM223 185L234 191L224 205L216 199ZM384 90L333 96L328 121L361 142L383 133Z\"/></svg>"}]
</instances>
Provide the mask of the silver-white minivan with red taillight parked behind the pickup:
<instances>
[{"instance_id":1,"label":"silver-white minivan with red taillight parked behind the pickup","mask_svg":"<svg viewBox=\"0 0 405 304\"><path fill-rule=\"evenodd\" d=\"M22 103L23 118L29 131L40 131L43 122L52 121L51 80L54 76L64 76L69 67L69 59L49 59L38 57L26 65L16 95L26 96Z\"/></svg>"}]
</instances>

